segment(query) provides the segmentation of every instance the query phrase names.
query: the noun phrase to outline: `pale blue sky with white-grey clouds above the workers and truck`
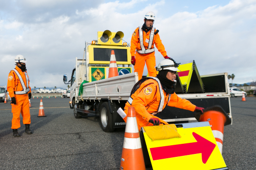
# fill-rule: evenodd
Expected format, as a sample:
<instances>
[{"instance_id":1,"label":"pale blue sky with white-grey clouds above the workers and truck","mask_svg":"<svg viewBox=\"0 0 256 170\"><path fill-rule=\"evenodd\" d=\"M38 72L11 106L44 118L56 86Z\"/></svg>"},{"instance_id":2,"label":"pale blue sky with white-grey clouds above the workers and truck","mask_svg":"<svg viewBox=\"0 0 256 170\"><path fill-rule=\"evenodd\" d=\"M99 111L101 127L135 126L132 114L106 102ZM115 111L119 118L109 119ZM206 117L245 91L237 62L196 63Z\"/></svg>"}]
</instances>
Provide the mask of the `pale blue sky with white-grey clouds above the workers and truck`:
<instances>
[{"instance_id":1,"label":"pale blue sky with white-grey clouds above the workers and truck","mask_svg":"<svg viewBox=\"0 0 256 170\"><path fill-rule=\"evenodd\" d=\"M85 41L110 30L130 43L148 11L177 62L195 60L200 75L233 73L233 83L256 80L256 0L0 0L0 85L21 54L31 87L66 88L63 74L71 76Z\"/></svg>"}]
</instances>

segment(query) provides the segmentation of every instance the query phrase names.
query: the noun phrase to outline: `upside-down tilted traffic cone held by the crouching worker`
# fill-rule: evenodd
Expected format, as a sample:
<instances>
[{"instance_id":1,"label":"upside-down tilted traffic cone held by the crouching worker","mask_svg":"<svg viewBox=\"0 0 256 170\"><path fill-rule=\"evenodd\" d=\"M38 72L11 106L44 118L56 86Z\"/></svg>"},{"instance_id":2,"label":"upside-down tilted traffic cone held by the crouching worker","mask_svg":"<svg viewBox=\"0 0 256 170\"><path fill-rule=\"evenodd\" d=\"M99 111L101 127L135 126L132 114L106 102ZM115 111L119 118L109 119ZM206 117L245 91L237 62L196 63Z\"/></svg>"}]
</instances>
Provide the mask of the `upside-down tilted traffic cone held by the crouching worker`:
<instances>
[{"instance_id":1,"label":"upside-down tilted traffic cone held by the crouching worker","mask_svg":"<svg viewBox=\"0 0 256 170\"><path fill-rule=\"evenodd\" d=\"M208 121L211 125L213 136L222 153L224 126L231 124L231 119L219 105L208 107L204 110L200 121Z\"/></svg>"}]
</instances>

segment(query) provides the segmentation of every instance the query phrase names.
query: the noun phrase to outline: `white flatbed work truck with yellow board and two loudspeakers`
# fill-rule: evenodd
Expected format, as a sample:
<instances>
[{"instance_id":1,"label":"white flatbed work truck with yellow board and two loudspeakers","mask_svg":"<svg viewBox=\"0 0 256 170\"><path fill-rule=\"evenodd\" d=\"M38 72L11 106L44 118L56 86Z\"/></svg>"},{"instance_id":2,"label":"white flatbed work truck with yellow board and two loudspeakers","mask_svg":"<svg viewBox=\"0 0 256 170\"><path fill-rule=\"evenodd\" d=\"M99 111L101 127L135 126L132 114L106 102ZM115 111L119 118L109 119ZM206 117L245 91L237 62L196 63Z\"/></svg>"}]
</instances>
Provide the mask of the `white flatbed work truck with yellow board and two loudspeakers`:
<instances>
[{"instance_id":1,"label":"white flatbed work truck with yellow board and two loudspeakers","mask_svg":"<svg viewBox=\"0 0 256 170\"><path fill-rule=\"evenodd\" d=\"M108 33L108 30L98 32L98 40L85 42L83 59L75 59L71 79L67 83L68 77L64 74L63 81L71 84L69 107L73 110L74 117L99 117L102 130L113 132L116 128L125 127L125 122L117 111L119 108L123 109L128 101L131 90L138 81L138 74L129 72L132 70L129 69L130 47L124 43L114 46L113 41L119 32L110 32L112 35ZM123 34L118 35L122 40ZM119 76L107 78L112 50L115 51ZM178 69L181 71L176 76L175 93L179 97L204 108L220 105L232 119L228 73L200 76L194 60L181 63ZM156 116L171 123L196 120L194 112L170 106Z\"/></svg>"}]
</instances>

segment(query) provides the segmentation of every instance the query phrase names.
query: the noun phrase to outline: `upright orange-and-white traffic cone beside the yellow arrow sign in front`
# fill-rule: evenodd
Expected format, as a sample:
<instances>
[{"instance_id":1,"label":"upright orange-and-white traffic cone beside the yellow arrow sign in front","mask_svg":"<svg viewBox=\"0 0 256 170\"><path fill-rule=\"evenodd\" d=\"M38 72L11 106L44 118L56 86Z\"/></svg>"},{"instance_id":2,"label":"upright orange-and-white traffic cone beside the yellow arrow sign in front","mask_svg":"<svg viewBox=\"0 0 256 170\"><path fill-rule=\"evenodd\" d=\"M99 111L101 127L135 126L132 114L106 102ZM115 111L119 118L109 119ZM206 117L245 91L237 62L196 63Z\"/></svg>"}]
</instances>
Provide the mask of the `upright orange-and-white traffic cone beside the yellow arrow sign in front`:
<instances>
[{"instance_id":1,"label":"upright orange-and-white traffic cone beside the yellow arrow sign in front","mask_svg":"<svg viewBox=\"0 0 256 170\"><path fill-rule=\"evenodd\" d=\"M146 170L134 107L128 108L120 170Z\"/></svg>"}]
</instances>

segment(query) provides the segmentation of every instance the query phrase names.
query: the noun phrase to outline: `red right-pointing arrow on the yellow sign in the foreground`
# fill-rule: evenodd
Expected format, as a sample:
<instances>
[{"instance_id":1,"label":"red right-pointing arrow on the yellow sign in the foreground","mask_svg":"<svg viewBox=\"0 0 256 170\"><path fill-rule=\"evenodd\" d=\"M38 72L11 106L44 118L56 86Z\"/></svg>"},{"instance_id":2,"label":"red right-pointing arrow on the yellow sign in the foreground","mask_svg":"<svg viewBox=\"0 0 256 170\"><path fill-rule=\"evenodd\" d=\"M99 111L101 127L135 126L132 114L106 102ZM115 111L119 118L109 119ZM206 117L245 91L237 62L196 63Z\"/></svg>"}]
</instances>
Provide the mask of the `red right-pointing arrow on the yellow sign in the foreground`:
<instances>
[{"instance_id":1,"label":"red right-pointing arrow on the yellow sign in the foreground","mask_svg":"<svg viewBox=\"0 0 256 170\"><path fill-rule=\"evenodd\" d=\"M153 160L202 153L202 161L205 164L216 145L194 132L192 135L197 142L150 148Z\"/></svg>"}]
</instances>

